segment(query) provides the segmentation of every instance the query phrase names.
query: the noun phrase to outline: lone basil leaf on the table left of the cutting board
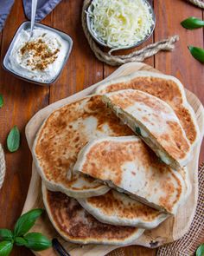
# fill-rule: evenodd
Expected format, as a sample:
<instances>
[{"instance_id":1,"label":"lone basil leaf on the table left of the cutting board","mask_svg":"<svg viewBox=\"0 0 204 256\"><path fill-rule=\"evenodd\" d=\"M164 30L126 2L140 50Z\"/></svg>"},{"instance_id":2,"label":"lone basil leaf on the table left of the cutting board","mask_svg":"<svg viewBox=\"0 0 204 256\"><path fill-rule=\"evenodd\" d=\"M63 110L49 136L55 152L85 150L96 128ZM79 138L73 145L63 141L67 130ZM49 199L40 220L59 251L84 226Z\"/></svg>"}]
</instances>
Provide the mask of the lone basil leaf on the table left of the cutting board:
<instances>
[{"instance_id":1,"label":"lone basil leaf on the table left of the cutting board","mask_svg":"<svg viewBox=\"0 0 204 256\"><path fill-rule=\"evenodd\" d=\"M7 148L10 152L15 152L20 146L20 132L16 126L10 130L7 137Z\"/></svg>"}]
</instances>

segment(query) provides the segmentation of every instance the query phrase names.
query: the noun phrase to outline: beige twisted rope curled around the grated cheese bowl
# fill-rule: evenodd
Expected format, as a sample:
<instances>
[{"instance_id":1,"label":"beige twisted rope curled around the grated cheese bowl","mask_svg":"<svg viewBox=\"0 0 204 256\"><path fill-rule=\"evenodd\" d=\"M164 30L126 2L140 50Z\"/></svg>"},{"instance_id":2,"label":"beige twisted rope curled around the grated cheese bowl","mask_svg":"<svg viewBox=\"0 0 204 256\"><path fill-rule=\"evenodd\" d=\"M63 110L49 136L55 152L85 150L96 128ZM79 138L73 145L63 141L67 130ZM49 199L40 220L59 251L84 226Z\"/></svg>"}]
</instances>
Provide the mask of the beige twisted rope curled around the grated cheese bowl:
<instances>
[{"instance_id":1,"label":"beige twisted rope curled around the grated cheese bowl","mask_svg":"<svg viewBox=\"0 0 204 256\"><path fill-rule=\"evenodd\" d=\"M111 66L118 66L127 62L143 62L144 59L156 55L160 50L172 50L175 48L175 42L179 40L179 36L171 36L168 39L164 39L162 41L152 43L143 49L136 50L128 55L122 56L112 56L109 53L105 53L103 50L99 48L97 43L94 42L92 36L90 35L87 24L86 24L86 12L85 10L89 6L92 0L85 0L82 8L82 27L86 35L86 39L89 43L90 48L92 49L95 56L101 62L105 62Z\"/></svg>"}]
</instances>

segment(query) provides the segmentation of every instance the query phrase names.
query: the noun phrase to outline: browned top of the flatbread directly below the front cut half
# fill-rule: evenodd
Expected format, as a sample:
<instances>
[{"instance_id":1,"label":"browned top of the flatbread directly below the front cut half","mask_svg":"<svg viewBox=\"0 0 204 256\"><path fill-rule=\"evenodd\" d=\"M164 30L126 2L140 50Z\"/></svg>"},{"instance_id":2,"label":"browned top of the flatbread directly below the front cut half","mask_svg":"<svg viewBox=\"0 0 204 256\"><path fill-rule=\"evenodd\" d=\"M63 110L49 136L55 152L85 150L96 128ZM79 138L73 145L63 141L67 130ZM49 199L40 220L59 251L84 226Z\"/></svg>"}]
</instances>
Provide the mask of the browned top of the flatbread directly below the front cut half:
<instances>
[{"instance_id":1,"label":"browned top of the flatbread directly below the front cut half","mask_svg":"<svg viewBox=\"0 0 204 256\"><path fill-rule=\"evenodd\" d=\"M87 203L91 204L92 207L99 208L99 210L106 215L117 213L117 216L120 218L141 218L141 220L144 221L152 221L160 214L159 211L137 203L135 200L127 199L129 200L128 204L124 204L123 199L119 196L116 197L114 193L115 192L110 190L106 194L88 198Z\"/></svg>"}]
</instances>

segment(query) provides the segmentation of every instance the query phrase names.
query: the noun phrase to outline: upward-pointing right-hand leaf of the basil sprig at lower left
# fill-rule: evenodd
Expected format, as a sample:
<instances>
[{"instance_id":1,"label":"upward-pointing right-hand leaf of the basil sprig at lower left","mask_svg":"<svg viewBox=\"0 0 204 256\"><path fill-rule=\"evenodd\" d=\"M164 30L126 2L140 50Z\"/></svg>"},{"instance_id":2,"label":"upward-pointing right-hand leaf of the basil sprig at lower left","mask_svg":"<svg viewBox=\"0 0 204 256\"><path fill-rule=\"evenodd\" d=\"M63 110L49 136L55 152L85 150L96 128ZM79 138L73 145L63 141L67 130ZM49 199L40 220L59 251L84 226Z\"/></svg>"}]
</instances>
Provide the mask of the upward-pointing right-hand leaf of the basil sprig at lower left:
<instances>
[{"instance_id":1,"label":"upward-pointing right-hand leaf of the basil sprig at lower left","mask_svg":"<svg viewBox=\"0 0 204 256\"><path fill-rule=\"evenodd\" d=\"M34 226L35 220L37 220L37 218L41 216L42 212L43 209L34 209L29 211L28 213L22 214L22 216L17 220L14 227L15 237L22 236L23 234L27 233L29 229Z\"/></svg>"}]
</instances>

